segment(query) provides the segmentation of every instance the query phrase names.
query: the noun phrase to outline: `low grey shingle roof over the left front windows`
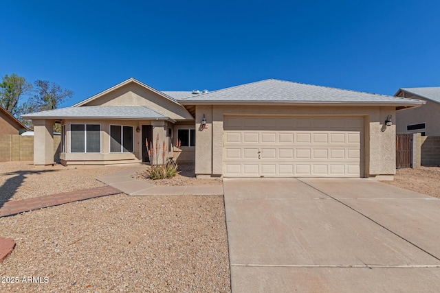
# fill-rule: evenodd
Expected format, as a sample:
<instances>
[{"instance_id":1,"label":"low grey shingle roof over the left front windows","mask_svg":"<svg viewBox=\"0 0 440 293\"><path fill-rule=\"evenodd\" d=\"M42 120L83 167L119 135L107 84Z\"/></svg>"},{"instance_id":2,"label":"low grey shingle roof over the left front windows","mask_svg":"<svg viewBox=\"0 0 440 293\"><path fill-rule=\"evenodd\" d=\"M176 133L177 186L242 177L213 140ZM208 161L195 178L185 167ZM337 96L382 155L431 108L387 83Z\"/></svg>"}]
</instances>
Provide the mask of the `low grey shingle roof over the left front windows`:
<instances>
[{"instance_id":1,"label":"low grey shingle roof over the left front windows","mask_svg":"<svg viewBox=\"0 0 440 293\"><path fill-rule=\"evenodd\" d=\"M22 115L30 118L169 119L144 106L82 106Z\"/></svg>"}]
</instances>

